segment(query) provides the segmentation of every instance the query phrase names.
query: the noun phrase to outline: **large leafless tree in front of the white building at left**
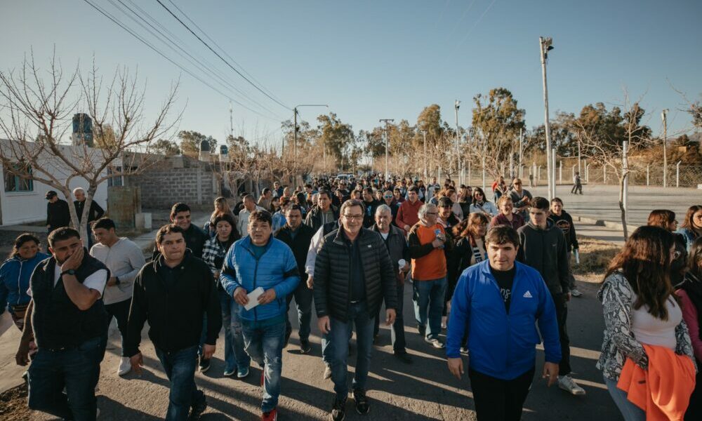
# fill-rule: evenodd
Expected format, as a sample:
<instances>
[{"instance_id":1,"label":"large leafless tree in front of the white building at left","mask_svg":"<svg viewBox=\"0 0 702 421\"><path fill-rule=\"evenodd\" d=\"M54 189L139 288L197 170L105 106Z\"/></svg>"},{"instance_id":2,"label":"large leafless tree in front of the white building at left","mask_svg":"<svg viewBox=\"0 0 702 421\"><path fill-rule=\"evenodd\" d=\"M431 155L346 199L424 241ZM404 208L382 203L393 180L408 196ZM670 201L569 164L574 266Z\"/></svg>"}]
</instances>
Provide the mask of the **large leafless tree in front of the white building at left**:
<instances>
[{"instance_id":1,"label":"large leafless tree in front of the white building at left","mask_svg":"<svg viewBox=\"0 0 702 421\"><path fill-rule=\"evenodd\" d=\"M71 182L87 182L86 203L80 222L68 200L71 222L87 244L88 212L98 185L109 178L133 175L159 160L150 154L154 141L170 138L182 111L171 119L178 83L174 83L151 121L145 121L144 89L127 69L117 69L104 83L98 69L77 66L65 73L55 55L48 69L34 56L20 69L0 71L0 131L7 141L0 147L5 171L36 180L71 197ZM93 121L91 147L84 139L71 145L64 139L75 113ZM169 121L170 120L170 121Z\"/></svg>"}]
</instances>

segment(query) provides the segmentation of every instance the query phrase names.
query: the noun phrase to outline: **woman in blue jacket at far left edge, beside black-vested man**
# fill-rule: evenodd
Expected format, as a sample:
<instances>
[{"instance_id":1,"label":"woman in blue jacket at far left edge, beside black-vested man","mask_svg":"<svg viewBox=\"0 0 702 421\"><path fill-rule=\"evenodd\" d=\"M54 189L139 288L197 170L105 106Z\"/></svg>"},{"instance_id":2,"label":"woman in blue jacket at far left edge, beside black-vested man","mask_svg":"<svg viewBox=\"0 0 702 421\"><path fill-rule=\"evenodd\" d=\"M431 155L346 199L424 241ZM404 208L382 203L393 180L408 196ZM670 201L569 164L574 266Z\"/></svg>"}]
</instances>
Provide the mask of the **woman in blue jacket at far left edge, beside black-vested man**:
<instances>
[{"instance_id":1,"label":"woman in blue jacket at far left edge, beside black-vested man","mask_svg":"<svg viewBox=\"0 0 702 421\"><path fill-rule=\"evenodd\" d=\"M34 267L50 257L41 253L37 236L25 233L15 239L8 259L0 266L0 314L7 307L12 321L20 330L25 326L25 312L32 300L27 295L29 278L32 277Z\"/></svg>"}]
</instances>

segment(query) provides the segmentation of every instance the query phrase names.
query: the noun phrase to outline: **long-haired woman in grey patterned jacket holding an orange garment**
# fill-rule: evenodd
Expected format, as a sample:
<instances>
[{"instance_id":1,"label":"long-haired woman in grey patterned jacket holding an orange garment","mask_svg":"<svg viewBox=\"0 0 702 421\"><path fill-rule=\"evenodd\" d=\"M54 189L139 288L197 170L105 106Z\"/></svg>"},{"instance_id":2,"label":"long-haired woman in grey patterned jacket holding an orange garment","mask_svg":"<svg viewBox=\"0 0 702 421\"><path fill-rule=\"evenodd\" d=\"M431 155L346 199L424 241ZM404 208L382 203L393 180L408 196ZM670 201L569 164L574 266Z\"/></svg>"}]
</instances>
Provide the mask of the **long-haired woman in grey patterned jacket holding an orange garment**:
<instances>
[{"instance_id":1,"label":"long-haired woman in grey patterned jacket holding an orange garment","mask_svg":"<svg viewBox=\"0 0 702 421\"><path fill-rule=\"evenodd\" d=\"M617 387L627 359L648 370L644 345L694 359L682 310L670 284L674 253L675 239L667 229L639 227L611 261L597 293L604 307L605 326L597 368L627 421L646 419L644 410L628 401L627 393Z\"/></svg>"}]
</instances>

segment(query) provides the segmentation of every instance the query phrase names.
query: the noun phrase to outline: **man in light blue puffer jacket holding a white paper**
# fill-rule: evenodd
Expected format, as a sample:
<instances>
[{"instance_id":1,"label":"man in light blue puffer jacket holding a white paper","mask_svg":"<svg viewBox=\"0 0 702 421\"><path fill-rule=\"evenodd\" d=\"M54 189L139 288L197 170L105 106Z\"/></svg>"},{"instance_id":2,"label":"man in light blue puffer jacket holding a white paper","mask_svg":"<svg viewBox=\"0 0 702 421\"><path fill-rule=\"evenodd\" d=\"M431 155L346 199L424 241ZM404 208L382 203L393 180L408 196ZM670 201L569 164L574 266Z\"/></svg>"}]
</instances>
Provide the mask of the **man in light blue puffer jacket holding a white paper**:
<instances>
[{"instance_id":1,"label":"man in light blue puffer jacket holding a white paper","mask_svg":"<svg viewBox=\"0 0 702 421\"><path fill-rule=\"evenodd\" d=\"M254 210L249 215L248 230L249 235L235 242L227 252L220 281L241 305L239 316L244 349L263 368L261 419L274 421L283 365L286 296L297 288L300 273L293 251L271 236L270 213ZM244 308L249 304L247 294L258 287L264 292L258 297L256 307L247 310Z\"/></svg>"}]
</instances>

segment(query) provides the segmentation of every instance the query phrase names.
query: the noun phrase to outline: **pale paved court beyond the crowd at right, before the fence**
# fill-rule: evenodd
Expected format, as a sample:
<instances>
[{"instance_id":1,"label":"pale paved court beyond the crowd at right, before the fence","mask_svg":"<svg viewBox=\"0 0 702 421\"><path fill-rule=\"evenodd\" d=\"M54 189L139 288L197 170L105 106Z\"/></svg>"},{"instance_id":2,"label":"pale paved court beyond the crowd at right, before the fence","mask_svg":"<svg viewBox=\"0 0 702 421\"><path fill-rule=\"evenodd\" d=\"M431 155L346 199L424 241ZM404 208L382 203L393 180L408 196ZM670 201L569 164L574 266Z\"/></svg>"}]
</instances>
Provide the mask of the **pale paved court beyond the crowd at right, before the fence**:
<instances>
[{"instance_id":1,"label":"pale paved court beyond the crowd at right, before the fence","mask_svg":"<svg viewBox=\"0 0 702 421\"><path fill-rule=\"evenodd\" d=\"M546 187L527 189L534 196L545 196ZM585 185L583 194L571 194L571 186L556 187L556 196L564 201L564 208L573 215L621 223L617 186ZM637 227L646 225L649 213L654 209L670 209L682 222L687 208L702 203L702 190L663 187L629 187L628 224Z\"/></svg>"}]
</instances>

